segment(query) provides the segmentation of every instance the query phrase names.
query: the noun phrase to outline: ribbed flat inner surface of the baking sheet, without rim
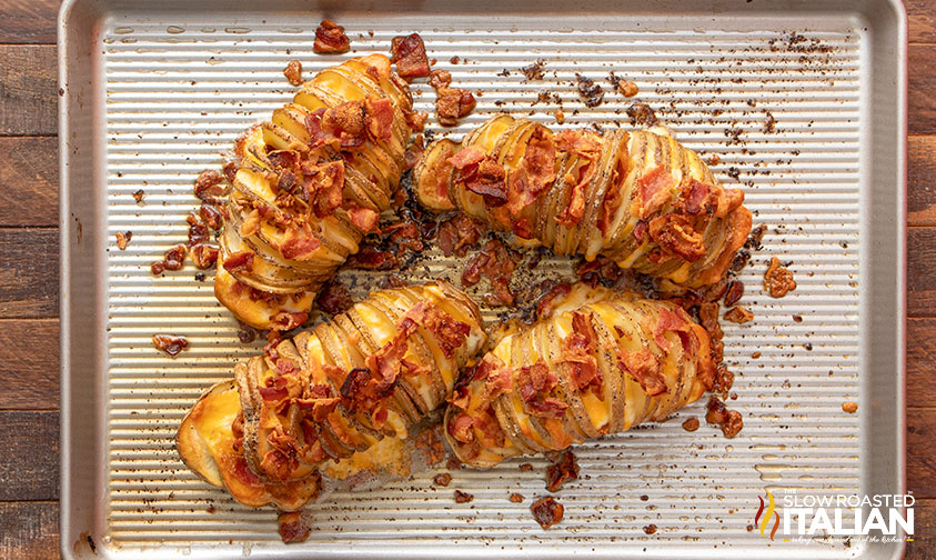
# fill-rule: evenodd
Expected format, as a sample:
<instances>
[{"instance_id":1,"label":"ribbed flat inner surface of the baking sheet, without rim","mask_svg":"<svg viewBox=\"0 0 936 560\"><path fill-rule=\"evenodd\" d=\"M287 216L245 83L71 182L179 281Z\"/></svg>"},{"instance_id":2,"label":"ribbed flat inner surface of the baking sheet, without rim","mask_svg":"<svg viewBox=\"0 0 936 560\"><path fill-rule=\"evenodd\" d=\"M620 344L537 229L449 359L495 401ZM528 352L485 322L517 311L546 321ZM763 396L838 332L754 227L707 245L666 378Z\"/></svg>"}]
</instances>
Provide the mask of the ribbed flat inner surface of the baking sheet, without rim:
<instances>
[{"instance_id":1,"label":"ribbed flat inner surface of the baking sheet, without rim","mask_svg":"<svg viewBox=\"0 0 936 560\"><path fill-rule=\"evenodd\" d=\"M859 231L867 210L860 207L859 130L868 103L859 79L867 64L866 32L844 16L807 21L779 13L727 23L606 13L340 17L354 47L349 57L385 52L393 36L419 31L435 68L479 92L474 113L444 130L454 137L499 110L557 127L554 101L533 104L545 90L560 96L566 126L630 127L625 109L640 100L685 144L718 156L719 179L742 184L755 227L768 228L764 249L742 274L742 303L755 321L724 324L726 361L737 376L737 399L729 406L743 413L744 430L728 440L703 420L698 431L684 431L684 419L704 416L700 402L663 424L582 446L576 450L582 478L558 494L565 519L548 531L529 510L545 494L542 459L530 461L529 472L519 470L525 460L490 471L453 471L449 488L434 487L433 473L422 473L365 493L338 493L310 508L312 536L289 548L280 542L271 510L240 507L190 473L173 449L179 420L260 342L238 341L236 322L215 302L210 274L199 282L189 264L155 278L149 264L184 241L199 171L217 168L241 130L290 99L293 88L282 74L286 61L301 60L308 79L341 60L312 52L318 20L316 13L256 17L234 26L223 14L177 21L121 17L102 29L107 547L127 557L860 552L842 543L769 543L748 528L765 488L853 493L868 460L859 431L868 410L842 409L845 401L862 402ZM450 62L455 56L457 64ZM545 77L529 81L520 68L537 59ZM638 84L634 100L613 91L612 70ZM604 88L603 104L585 107L576 73ZM414 90L416 107L432 112L432 89L417 83ZM771 118L773 129L766 124ZM434 118L429 128L443 132ZM139 189L145 192L142 204L132 197ZM119 231L132 231L125 251L115 247ZM781 300L761 286L772 256L792 261L799 286ZM457 279L463 266L441 256L426 263L406 278ZM570 267L544 261L539 270L562 276ZM350 276L359 277L359 297L379 283ZM182 334L191 348L170 359L152 347L153 333ZM474 501L456 504L454 489L474 494ZM523 503L510 502L512 492L522 493ZM651 523L657 530L646 534Z\"/></svg>"}]
</instances>

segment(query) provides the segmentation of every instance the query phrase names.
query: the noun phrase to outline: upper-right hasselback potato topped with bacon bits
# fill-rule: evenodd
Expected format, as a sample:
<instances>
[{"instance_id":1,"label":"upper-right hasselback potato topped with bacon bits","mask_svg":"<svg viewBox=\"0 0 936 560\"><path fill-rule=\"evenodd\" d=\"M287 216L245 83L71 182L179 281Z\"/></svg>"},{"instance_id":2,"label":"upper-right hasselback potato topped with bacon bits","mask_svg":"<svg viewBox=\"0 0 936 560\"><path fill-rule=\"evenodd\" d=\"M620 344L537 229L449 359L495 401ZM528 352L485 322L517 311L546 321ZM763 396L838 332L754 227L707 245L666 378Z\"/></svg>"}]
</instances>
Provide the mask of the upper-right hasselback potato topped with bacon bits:
<instances>
[{"instance_id":1,"label":"upper-right hasselback potato topped with bacon bits","mask_svg":"<svg viewBox=\"0 0 936 560\"><path fill-rule=\"evenodd\" d=\"M721 280L751 231L744 193L662 129L553 133L497 114L461 143L426 148L414 186L431 210L683 288Z\"/></svg>"}]
</instances>

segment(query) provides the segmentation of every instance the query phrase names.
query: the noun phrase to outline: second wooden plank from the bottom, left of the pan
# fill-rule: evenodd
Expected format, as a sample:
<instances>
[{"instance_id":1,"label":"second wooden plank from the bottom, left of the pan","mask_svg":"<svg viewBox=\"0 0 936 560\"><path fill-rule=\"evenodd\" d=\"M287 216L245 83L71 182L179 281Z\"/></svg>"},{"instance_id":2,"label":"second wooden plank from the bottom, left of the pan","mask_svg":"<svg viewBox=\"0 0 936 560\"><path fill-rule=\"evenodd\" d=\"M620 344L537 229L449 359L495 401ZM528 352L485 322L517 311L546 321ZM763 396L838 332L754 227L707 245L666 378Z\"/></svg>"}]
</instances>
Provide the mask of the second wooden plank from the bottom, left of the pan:
<instances>
[{"instance_id":1,"label":"second wooden plank from the bottom, left of the pan","mask_svg":"<svg viewBox=\"0 0 936 560\"><path fill-rule=\"evenodd\" d=\"M0 411L0 501L59 498L58 412Z\"/></svg>"}]
</instances>

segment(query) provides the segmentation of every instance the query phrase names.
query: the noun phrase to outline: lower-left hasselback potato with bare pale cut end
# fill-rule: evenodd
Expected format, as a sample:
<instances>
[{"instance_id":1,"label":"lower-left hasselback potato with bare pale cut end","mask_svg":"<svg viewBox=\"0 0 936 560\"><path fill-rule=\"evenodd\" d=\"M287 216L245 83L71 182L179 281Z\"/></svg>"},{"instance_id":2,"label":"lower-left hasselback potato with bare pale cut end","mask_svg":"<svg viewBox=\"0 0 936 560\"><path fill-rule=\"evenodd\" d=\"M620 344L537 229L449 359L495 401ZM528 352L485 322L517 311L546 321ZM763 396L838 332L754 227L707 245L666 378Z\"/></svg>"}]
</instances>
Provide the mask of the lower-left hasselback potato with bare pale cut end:
<instances>
[{"instance_id":1,"label":"lower-left hasselback potato with bare pale cut end","mask_svg":"<svg viewBox=\"0 0 936 560\"><path fill-rule=\"evenodd\" d=\"M477 306L446 282L376 291L238 363L188 413L177 448L238 501L294 510L315 496L324 461L405 438L485 339Z\"/></svg>"}]
</instances>

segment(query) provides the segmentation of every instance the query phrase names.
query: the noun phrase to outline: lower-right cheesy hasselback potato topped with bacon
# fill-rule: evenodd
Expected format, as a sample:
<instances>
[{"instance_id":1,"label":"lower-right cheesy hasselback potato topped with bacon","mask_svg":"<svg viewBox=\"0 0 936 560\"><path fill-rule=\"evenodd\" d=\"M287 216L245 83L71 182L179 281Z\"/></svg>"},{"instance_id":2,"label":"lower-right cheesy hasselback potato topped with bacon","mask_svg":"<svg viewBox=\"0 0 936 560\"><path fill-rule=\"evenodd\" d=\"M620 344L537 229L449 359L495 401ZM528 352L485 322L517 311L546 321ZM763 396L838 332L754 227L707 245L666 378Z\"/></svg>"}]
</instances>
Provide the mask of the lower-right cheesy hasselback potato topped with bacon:
<instances>
[{"instance_id":1,"label":"lower-right cheesy hasselback potato topped with bacon","mask_svg":"<svg viewBox=\"0 0 936 560\"><path fill-rule=\"evenodd\" d=\"M459 381L444 433L474 467L662 420L713 387L705 329L682 308L578 283Z\"/></svg>"}]
</instances>

